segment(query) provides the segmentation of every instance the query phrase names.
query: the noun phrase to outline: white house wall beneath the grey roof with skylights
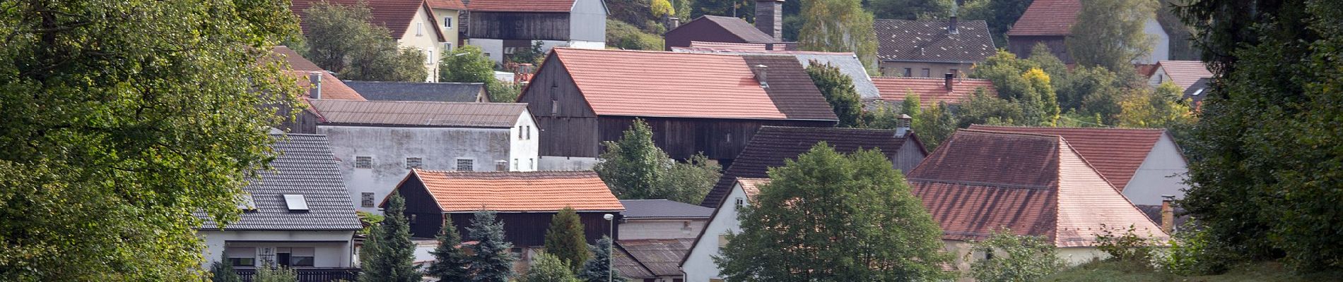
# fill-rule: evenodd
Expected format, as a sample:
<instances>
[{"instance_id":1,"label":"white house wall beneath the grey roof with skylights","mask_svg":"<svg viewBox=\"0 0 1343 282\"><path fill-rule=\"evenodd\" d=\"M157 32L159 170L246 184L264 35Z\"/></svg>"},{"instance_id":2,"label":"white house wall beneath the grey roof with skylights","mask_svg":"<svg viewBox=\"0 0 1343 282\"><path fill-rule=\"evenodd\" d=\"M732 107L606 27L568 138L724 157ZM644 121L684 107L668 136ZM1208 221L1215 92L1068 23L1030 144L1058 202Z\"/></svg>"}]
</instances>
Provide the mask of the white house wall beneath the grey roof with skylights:
<instances>
[{"instance_id":1,"label":"white house wall beneath the grey roof with skylights","mask_svg":"<svg viewBox=\"0 0 1343 282\"><path fill-rule=\"evenodd\" d=\"M247 231L247 230L200 230L196 231L205 242L204 263L223 258L227 247L313 247L313 267L352 267L355 231ZM271 249L274 250L274 249ZM274 253L274 251L271 251ZM257 257L261 265L262 257Z\"/></svg>"}]
</instances>

